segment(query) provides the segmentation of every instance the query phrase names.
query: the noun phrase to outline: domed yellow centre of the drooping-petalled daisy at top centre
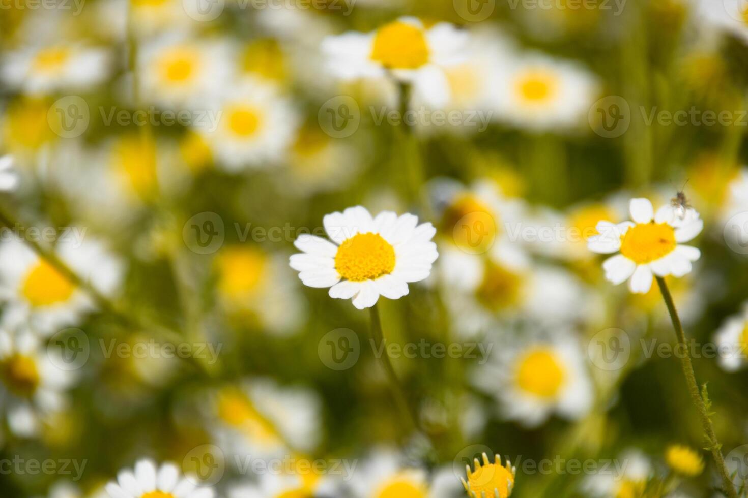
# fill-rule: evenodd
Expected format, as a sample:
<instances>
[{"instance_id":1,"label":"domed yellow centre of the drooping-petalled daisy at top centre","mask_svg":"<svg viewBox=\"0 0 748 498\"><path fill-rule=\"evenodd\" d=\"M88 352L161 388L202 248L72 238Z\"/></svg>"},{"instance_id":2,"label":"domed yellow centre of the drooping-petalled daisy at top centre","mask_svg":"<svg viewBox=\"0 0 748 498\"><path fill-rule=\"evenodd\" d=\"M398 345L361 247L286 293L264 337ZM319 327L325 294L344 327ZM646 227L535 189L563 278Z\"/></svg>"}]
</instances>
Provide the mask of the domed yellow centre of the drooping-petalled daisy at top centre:
<instances>
[{"instance_id":1,"label":"domed yellow centre of the drooping-petalled daisy at top centre","mask_svg":"<svg viewBox=\"0 0 748 498\"><path fill-rule=\"evenodd\" d=\"M417 69L429 62L423 29L406 22L390 22L374 37L371 58L390 69Z\"/></svg>"}]
</instances>

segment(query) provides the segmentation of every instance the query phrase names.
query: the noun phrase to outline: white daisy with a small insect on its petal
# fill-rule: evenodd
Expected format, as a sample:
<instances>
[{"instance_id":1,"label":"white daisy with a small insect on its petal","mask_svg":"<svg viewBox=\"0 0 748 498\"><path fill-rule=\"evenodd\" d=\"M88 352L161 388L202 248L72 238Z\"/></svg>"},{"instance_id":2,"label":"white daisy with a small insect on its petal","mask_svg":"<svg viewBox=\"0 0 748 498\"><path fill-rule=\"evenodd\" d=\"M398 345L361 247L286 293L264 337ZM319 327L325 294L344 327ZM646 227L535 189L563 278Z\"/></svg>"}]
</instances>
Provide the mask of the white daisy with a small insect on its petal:
<instances>
[{"instance_id":1,"label":"white daisy with a small insect on its petal","mask_svg":"<svg viewBox=\"0 0 748 498\"><path fill-rule=\"evenodd\" d=\"M600 234L587 241L592 252L621 252L603 263L605 278L616 285L631 278L631 292L647 293L653 274L682 277L690 273L701 252L682 243L692 240L704 228L699 213L688 208L680 216L672 205L663 205L655 214L652 202L643 198L631 199L629 211L634 222L599 222Z\"/></svg>"}]
</instances>

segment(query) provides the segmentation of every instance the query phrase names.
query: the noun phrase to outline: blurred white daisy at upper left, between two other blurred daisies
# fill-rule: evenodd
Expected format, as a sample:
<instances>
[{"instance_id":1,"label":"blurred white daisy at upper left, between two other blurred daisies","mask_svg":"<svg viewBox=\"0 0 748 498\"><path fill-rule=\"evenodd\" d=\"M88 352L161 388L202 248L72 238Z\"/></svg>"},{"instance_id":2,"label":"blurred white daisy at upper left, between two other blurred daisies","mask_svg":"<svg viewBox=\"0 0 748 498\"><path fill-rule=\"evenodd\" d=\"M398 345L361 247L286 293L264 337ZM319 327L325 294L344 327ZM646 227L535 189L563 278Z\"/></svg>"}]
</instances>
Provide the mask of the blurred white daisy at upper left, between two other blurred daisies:
<instances>
[{"instance_id":1,"label":"blurred white daisy at upper left, between two other blurred daisies","mask_svg":"<svg viewBox=\"0 0 748 498\"><path fill-rule=\"evenodd\" d=\"M226 43L167 35L138 53L141 95L162 108L199 108L233 72Z\"/></svg>"}]
</instances>

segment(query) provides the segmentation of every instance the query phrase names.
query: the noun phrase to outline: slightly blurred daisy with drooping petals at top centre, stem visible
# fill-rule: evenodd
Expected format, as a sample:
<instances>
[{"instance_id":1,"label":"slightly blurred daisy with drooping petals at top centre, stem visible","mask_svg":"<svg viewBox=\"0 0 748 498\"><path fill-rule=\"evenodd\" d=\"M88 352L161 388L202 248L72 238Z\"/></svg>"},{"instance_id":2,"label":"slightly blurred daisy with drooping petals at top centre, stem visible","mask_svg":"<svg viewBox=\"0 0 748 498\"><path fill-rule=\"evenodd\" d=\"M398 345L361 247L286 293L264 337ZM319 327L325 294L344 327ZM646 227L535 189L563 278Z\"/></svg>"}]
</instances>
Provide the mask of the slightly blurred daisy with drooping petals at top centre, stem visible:
<instances>
[{"instance_id":1,"label":"slightly blurred daisy with drooping petals at top centre, stem visible","mask_svg":"<svg viewBox=\"0 0 748 498\"><path fill-rule=\"evenodd\" d=\"M414 95L444 105L450 89L444 66L462 60L468 33L446 22L426 26L420 19L401 17L372 33L349 31L322 42L328 68L352 80L388 74L413 85Z\"/></svg>"}]
</instances>

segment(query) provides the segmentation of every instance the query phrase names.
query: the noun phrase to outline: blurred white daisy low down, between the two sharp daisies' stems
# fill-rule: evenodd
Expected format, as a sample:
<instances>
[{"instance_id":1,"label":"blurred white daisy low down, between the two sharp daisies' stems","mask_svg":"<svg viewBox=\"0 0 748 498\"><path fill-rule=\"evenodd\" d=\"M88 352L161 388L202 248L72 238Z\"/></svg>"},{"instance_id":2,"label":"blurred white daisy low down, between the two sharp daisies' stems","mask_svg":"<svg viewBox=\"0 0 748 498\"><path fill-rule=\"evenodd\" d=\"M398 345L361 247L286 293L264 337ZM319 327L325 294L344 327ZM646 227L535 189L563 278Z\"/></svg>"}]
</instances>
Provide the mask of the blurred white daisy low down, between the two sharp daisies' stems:
<instances>
[{"instance_id":1,"label":"blurred white daisy low down, between the two sharp daisies' stems","mask_svg":"<svg viewBox=\"0 0 748 498\"><path fill-rule=\"evenodd\" d=\"M551 414L576 420L592 406L592 383L571 335L503 348L476 370L473 383L497 399L503 417L527 427Z\"/></svg>"}]
</instances>

